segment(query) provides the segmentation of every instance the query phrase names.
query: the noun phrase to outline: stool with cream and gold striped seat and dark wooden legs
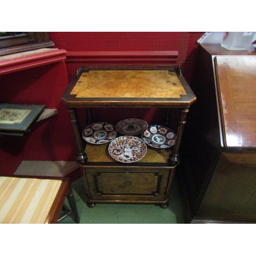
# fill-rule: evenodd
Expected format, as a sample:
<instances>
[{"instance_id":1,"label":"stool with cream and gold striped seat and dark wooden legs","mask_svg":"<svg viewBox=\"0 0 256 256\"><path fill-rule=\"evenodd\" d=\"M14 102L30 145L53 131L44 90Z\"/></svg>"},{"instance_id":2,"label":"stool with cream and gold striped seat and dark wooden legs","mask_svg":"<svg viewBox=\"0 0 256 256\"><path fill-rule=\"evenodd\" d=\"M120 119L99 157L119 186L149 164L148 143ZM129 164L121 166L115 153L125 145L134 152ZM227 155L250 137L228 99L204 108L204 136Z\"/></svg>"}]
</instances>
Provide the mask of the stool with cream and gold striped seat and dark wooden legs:
<instances>
[{"instance_id":1,"label":"stool with cream and gold striped seat and dark wooden legs","mask_svg":"<svg viewBox=\"0 0 256 256\"><path fill-rule=\"evenodd\" d=\"M66 197L71 210L60 217ZM0 176L0 223L58 223L72 212L79 223L68 178Z\"/></svg>"}]
</instances>

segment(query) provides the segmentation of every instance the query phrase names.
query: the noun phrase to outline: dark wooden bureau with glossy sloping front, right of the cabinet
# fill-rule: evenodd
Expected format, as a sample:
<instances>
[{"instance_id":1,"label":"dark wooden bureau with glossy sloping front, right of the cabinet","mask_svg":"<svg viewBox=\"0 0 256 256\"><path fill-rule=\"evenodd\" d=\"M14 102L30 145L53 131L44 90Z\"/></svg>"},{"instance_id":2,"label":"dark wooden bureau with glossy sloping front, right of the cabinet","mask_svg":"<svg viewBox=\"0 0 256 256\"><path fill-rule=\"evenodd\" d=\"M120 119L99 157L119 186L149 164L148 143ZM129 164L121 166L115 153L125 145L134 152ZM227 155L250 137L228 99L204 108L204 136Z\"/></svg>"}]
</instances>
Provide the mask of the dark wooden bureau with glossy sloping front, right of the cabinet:
<instances>
[{"instance_id":1,"label":"dark wooden bureau with glossy sloping front, right of the cabinet","mask_svg":"<svg viewBox=\"0 0 256 256\"><path fill-rule=\"evenodd\" d=\"M256 222L256 55L200 45L184 131L188 222Z\"/></svg>"}]
</instances>

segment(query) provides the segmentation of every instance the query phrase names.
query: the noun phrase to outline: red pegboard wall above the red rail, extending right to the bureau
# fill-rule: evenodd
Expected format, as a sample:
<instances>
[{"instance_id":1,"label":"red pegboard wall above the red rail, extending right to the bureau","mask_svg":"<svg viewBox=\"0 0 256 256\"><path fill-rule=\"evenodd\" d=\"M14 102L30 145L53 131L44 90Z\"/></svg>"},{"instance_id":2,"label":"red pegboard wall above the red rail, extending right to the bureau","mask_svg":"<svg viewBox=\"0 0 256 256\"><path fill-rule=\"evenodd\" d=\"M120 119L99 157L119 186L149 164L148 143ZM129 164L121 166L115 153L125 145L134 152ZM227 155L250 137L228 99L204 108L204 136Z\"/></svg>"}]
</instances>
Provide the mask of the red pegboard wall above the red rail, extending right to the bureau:
<instances>
[{"instance_id":1,"label":"red pegboard wall above the red rail, extending right to the bureau","mask_svg":"<svg viewBox=\"0 0 256 256\"><path fill-rule=\"evenodd\" d=\"M58 49L75 51L178 51L187 82L193 75L197 40L204 32L49 32Z\"/></svg>"}]
</instances>

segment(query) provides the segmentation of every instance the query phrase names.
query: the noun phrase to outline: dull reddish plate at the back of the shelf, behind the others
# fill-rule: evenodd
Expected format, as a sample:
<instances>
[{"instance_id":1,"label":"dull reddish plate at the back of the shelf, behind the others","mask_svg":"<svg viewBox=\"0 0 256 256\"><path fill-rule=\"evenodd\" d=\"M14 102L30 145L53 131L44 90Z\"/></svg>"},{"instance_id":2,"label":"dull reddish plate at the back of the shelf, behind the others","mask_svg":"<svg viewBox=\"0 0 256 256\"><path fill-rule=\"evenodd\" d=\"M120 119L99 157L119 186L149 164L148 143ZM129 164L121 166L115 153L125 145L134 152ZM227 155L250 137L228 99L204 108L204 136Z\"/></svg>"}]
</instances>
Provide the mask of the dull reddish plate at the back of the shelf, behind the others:
<instances>
[{"instance_id":1,"label":"dull reddish plate at the back of the shelf, behind the others","mask_svg":"<svg viewBox=\"0 0 256 256\"><path fill-rule=\"evenodd\" d=\"M125 135L137 135L147 127L147 122L137 118L124 119L116 124L116 130Z\"/></svg>"}]
</instances>

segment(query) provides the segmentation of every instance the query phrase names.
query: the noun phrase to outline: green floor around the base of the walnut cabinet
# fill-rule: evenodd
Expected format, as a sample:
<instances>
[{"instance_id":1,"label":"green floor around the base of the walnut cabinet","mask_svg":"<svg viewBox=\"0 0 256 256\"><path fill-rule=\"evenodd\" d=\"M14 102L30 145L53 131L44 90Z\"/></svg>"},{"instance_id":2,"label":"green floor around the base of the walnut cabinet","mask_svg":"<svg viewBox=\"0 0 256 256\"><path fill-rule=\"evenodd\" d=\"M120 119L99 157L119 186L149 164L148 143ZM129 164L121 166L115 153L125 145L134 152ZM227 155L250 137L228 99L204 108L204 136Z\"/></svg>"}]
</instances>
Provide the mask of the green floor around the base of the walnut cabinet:
<instances>
[{"instance_id":1,"label":"green floor around the base of the walnut cabinet","mask_svg":"<svg viewBox=\"0 0 256 256\"><path fill-rule=\"evenodd\" d=\"M82 178L72 183L80 224L180 224L185 223L185 206L181 187L175 177L166 209L151 204L96 204L89 208L84 202ZM65 204L69 206L66 201ZM76 224L73 216L61 220L61 224ZM77 225L77 224L76 224Z\"/></svg>"}]
</instances>

